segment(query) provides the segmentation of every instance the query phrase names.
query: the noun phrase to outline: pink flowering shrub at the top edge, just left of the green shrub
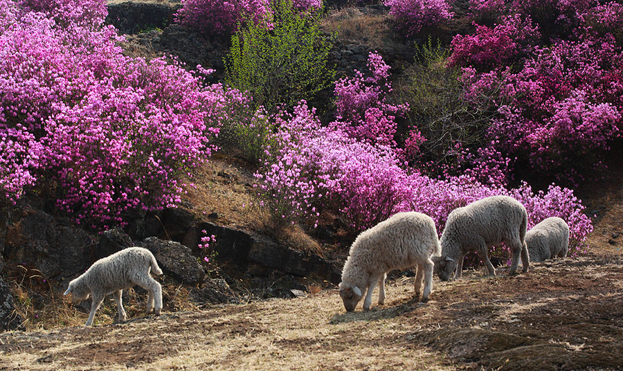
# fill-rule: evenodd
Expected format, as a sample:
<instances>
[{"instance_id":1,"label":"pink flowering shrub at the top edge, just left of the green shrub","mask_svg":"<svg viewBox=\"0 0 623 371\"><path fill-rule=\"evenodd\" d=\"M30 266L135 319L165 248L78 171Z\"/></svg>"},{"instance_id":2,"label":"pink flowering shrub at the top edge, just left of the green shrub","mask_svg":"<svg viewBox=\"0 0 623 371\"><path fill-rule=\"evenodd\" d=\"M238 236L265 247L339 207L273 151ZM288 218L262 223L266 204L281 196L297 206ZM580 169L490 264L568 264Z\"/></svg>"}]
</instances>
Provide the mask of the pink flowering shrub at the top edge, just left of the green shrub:
<instances>
[{"instance_id":1,"label":"pink flowering shrub at the top edge, just left of the green shrub","mask_svg":"<svg viewBox=\"0 0 623 371\"><path fill-rule=\"evenodd\" d=\"M210 35L233 33L240 21L270 24L269 0L182 0L175 17L179 24Z\"/></svg>"}]
</instances>

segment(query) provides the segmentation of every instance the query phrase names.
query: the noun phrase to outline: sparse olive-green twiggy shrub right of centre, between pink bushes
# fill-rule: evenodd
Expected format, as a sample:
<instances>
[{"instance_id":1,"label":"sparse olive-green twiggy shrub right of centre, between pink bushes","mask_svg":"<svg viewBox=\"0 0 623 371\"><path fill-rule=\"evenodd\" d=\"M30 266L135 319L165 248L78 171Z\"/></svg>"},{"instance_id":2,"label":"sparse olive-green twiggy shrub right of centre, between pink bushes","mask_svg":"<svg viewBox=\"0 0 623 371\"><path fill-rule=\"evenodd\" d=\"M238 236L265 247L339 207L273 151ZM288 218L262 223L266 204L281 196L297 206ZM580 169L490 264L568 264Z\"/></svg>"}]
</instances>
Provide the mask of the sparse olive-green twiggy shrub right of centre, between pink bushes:
<instances>
[{"instance_id":1,"label":"sparse olive-green twiggy shrub right of centre, between pink bushes","mask_svg":"<svg viewBox=\"0 0 623 371\"><path fill-rule=\"evenodd\" d=\"M487 127L496 110L490 100L469 101L458 68L448 66L449 51L431 40L419 47L417 63L407 71L401 83L401 101L410 107L410 131L424 138L405 153L417 168L439 175L461 172L466 151L476 150L484 143ZM423 166L423 165L428 166Z\"/></svg>"}]
</instances>

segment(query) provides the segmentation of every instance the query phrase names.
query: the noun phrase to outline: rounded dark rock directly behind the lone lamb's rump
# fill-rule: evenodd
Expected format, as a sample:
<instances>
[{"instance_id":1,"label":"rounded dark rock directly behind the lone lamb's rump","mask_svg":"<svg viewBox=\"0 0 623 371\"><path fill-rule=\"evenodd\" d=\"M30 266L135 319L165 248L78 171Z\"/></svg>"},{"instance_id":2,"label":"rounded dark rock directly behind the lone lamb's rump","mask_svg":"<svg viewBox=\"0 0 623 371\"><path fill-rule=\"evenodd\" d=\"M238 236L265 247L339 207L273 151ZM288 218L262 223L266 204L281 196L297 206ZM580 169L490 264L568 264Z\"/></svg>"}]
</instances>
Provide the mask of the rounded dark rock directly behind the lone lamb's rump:
<instances>
[{"instance_id":1,"label":"rounded dark rock directly behind the lone lamb's rump","mask_svg":"<svg viewBox=\"0 0 623 371\"><path fill-rule=\"evenodd\" d=\"M160 268L168 275L186 284L204 281L206 273L190 248L174 241L163 241L156 237L147 237L137 246L147 248L156 257Z\"/></svg>"}]
</instances>

